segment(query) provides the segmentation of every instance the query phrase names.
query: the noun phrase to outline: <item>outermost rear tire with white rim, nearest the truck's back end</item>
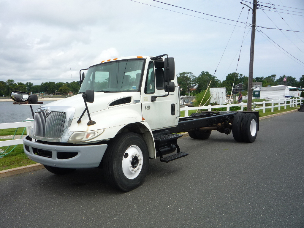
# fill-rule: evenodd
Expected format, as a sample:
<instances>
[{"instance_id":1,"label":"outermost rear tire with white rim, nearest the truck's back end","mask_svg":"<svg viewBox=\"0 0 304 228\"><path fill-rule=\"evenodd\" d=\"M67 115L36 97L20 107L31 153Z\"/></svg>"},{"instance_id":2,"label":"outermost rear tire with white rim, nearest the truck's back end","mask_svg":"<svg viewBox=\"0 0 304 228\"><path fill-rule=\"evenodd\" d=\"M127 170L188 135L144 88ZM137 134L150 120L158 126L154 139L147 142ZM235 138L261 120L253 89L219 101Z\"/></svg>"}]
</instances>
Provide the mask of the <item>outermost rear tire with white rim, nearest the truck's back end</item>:
<instances>
[{"instance_id":1,"label":"outermost rear tire with white rim, nearest the truck's back end","mask_svg":"<svg viewBox=\"0 0 304 228\"><path fill-rule=\"evenodd\" d=\"M241 124L243 139L247 143L253 143L257 137L257 117L253 113L246 113Z\"/></svg>"}]
</instances>

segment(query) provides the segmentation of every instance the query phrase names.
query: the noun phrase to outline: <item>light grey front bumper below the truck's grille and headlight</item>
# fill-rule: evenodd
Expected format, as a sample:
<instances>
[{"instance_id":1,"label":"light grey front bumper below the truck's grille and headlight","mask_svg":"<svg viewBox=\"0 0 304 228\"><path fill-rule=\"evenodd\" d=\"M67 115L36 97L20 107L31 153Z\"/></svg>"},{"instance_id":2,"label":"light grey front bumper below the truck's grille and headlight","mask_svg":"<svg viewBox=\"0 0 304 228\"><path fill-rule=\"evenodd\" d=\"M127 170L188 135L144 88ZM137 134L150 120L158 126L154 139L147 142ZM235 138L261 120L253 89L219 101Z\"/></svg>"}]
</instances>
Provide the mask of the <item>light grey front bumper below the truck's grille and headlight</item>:
<instances>
[{"instance_id":1,"label":"light grey front bumper below the truck's grille and headlight","mask_svg":"<svg viewBox=\"0 0 304 228\"><path fill-rule=\"evenodd\" d=\"M59 168L94 168L98 167L105 150L107 149L107 144L100 145L83 145L83 146L57 146L49 145L38 142L32 142L28 139L29 137L23 138L23 149L26 156L38 163L59 167ZM36 149L46 150L51 153L51 157L43 157L33 152ZM36 149L35 149L36 148ZM57 152L77 152L75 157L67 159L58 159Z\"/></svg>"}]
</instances>

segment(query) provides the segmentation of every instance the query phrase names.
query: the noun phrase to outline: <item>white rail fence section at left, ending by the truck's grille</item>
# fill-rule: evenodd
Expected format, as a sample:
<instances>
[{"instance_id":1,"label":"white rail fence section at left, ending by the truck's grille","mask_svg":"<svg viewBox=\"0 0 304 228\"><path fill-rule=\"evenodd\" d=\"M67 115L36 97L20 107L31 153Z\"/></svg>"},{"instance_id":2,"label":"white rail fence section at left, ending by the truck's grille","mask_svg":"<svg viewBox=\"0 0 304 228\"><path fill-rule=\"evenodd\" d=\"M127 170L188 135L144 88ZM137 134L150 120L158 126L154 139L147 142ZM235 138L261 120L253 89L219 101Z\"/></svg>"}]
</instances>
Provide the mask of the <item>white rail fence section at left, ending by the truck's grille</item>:
<instances>
[{"instance_id":1,"label":"white rail fence section at left, ending by the truck's grille","mask_svg":"<svg viewBox=\"0 0 304 228\"><path fill-rule=\"evenodd\" d=\"M32 126L33 126L33 119L26 119L25 122L0 123L0 129L26 127L26 135L29 135L29 130L31 129ZM0 147L13 146L18 144L23 144L22 139L0 141Z\"/></svg>"}]
</instances>

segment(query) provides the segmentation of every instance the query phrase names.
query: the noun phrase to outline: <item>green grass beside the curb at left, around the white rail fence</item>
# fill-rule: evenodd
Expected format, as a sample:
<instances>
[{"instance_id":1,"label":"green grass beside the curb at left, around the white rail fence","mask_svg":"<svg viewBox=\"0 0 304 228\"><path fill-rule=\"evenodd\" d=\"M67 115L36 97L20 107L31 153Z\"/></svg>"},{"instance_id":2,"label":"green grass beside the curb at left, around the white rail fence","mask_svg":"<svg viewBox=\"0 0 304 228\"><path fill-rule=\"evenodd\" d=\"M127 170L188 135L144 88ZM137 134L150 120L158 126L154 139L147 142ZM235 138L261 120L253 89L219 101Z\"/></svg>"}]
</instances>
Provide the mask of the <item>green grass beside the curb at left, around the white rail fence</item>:
<instances>
[{"instance_id":1,"label":"green grass beside the curb at left, around the white rail fence","mask_svg":"<svg viewBox=\"0 0 304 228\"><path fill-rule=\"evenodd\" d=\"M0 139L0 141L5 141L5 139ZM6 152L9 152L15 146L10 146ZM6 150L7 147L0 147L2 150ZM0 153L2 153L1 151ZM3 155L3 154L2 154ZM0 155L1 156L1 155ZM35 161L32 161L26 157L23 151L23 144L17 145L16 148L9 154L0 158L0 171L5 169L12 169L16 167L21 167L25 165L35 164Z\"/></svg>"}]
</instances>

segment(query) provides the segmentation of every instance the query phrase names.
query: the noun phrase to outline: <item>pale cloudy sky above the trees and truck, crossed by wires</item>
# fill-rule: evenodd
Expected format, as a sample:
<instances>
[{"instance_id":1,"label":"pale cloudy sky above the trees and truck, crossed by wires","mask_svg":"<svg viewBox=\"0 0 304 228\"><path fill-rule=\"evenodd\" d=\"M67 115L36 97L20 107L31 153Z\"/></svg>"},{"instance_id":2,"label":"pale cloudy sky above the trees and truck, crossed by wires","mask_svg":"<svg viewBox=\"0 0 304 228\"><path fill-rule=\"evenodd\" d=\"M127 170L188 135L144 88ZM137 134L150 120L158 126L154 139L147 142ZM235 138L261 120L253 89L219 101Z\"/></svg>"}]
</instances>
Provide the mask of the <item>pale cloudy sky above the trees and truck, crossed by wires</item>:
<instances>
[{"instance_id":1,"label":"pale cloudy sky above the trees and truck, crossed by wires","mask_svg":"<svg viewBox=\"0 0 304 228\"><path fill-rule=\"evenodd\" d=\"M236 71L244 34L237 72L248 76L251 12L248 26L237 23L240 27L234 29L236 22L233 21L152 0L136 1L0 0L0 81L13 79L34 85L46 81L71 82L72 78L79 80L80 69L102 60L165 53L175 58L177 73L191 71L199 75L201 71L209 71L213 74L219 64L215 76L223 80L228 73ZM227 19L239 18L241 22L246 22L248 16L248 8L245 6L242 10L240 0L163 2ZM248 2L250 0L247 0L249 5ZM304 10L301 10L304 1L271 0L271 3L282 5L276 6L277 9L296 11L279 12L297 15L280 13L282 19L278 12L258 9L257 26L304 31ZM261 1L260 4L270 6ZM258 30L304 63L304 33L282 31L285 37L280 30ZM304 64L284 54L262 35L266 37L256 33L254 77L285 74L299 79L304 74Z\"/></svg>"}]
</instances>

